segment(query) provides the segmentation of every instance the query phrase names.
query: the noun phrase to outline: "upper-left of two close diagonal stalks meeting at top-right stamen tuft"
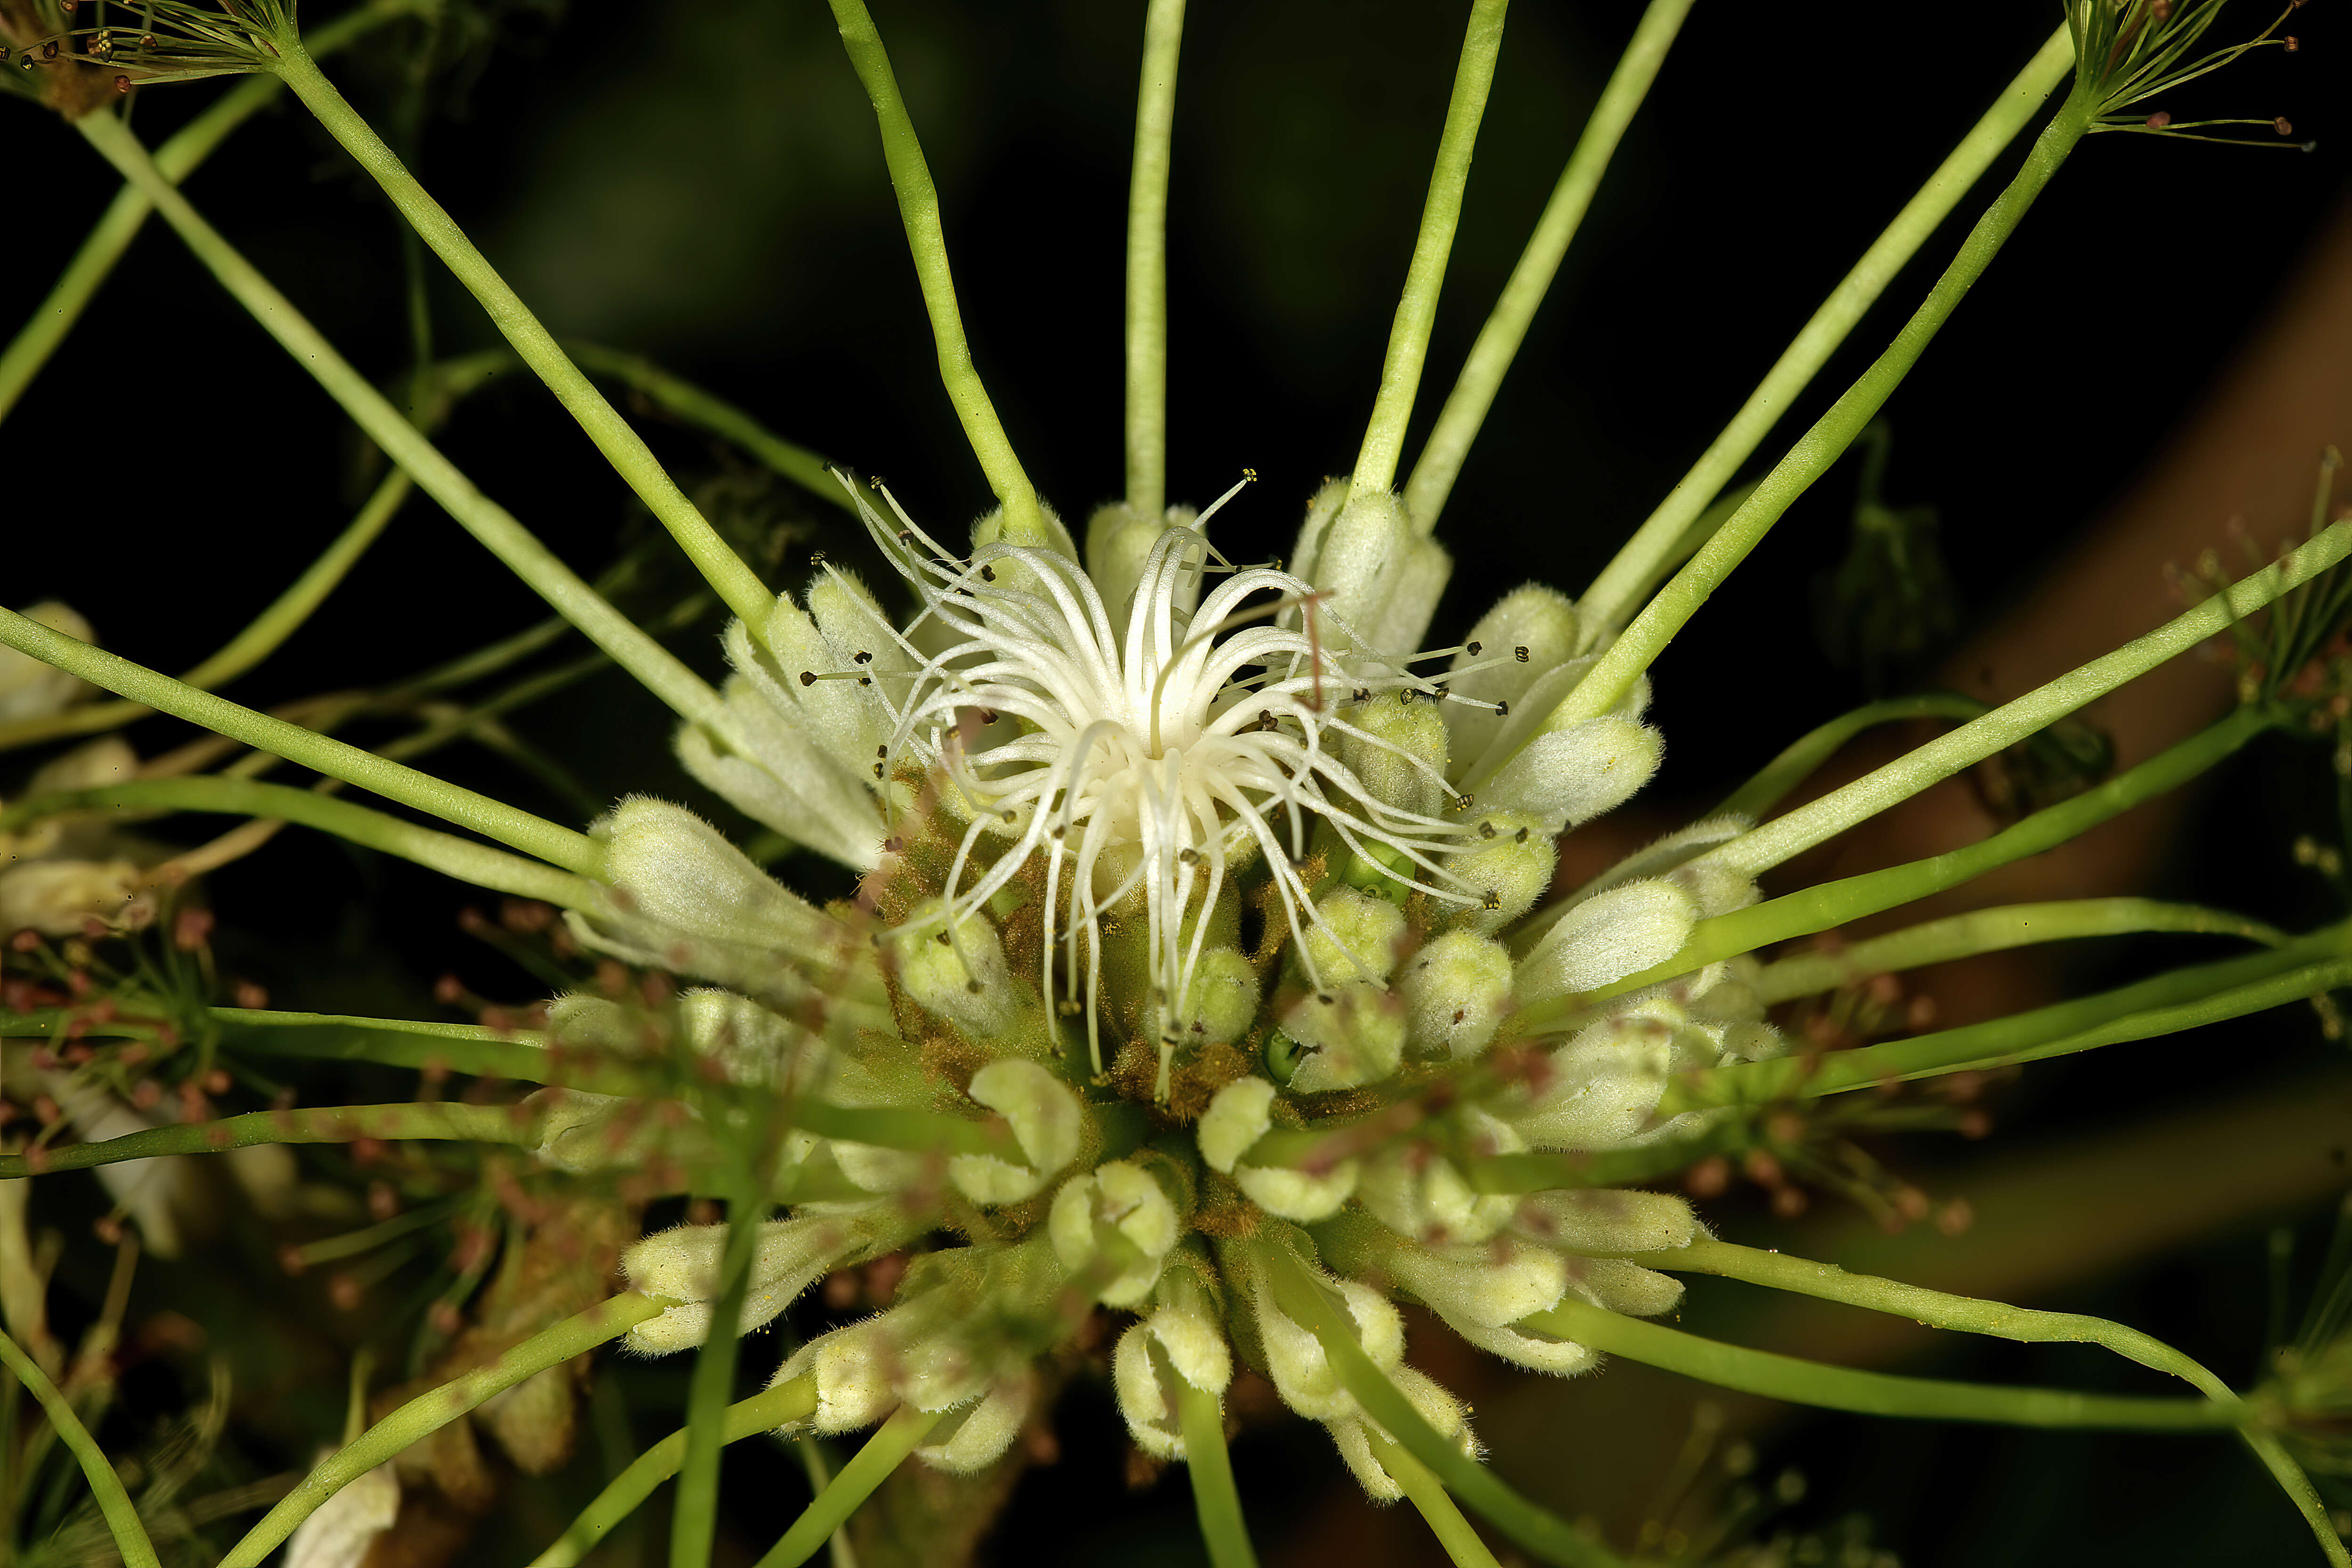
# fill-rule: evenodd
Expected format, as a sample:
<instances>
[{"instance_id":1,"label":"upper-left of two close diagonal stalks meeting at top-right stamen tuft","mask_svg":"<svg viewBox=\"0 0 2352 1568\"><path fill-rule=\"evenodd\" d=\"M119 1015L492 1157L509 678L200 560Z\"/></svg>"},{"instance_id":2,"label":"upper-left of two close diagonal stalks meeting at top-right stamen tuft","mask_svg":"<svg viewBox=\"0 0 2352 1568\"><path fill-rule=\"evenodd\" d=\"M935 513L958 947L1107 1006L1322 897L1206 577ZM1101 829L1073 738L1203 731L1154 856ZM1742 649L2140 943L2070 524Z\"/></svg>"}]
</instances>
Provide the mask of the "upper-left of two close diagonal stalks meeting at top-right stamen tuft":
<instances>
[{"instance_id":1,"label":"upper-left of two close diagonal stalks meeting at top-right stamen tuft","mask_svg":"<svg viewBox=\"0 0 2352 1568\"><path fill-rule=\"evenodd\" d=\"M1773 367L1748 395L1740 411L1731 416L1724 433L1700 454L1691 473L1658 503L1658 510L1635 531L1616 559L1592 581L1578 607L1595 628L1611 628L1632 611L1635 592L1649 581L1653 564L1670 555L1684 529L1708 508L1708 503L1731 482L1740 463L1764 442L1771 428L1795 404L1797 395L1820 374L1837 346L1846 341L1853 324L1879 299L1896 273L1903 270L1929 235L1952 214L1959 197L1985 176L1992 160L2002 155L2034 108L2074 68L2074 42L2067 28L2051 33L2049 42L2027 61L1985 118L1962 136L1952 155L1919 186L1919 193L1896 214L1853 270L1839 280L1837 289L1820 303L1813 317L1797 331Z\"/></svg>"}]
</instances>

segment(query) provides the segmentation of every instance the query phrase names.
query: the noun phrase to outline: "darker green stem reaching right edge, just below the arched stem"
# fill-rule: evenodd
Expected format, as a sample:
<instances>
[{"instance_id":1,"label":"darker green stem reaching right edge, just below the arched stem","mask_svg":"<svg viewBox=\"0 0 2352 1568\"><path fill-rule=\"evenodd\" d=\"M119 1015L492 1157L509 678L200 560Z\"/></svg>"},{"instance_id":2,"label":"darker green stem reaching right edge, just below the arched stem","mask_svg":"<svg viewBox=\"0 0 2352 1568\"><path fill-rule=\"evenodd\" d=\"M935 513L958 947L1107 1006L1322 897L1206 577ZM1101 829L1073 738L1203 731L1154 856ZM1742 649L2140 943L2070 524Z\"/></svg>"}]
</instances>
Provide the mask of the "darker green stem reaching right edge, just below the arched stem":
<instances>
[{"instance_id":1,"label":"darker green stem reaching right edge, just below the arched stem","mask_svg":"<svg viewBox=\"0 0 2352 1568\"><path fill-rule=\"evenodd\" d=\"M2096 1046L2154 1039L2223 1018L2260 1013L2345 985L2345 976L2352 973L2347 950L2352 950L2352 926L2338 924L2284 947L2173 969L2096 997L2077 997L1959 1030L1938 1030L1936 1034L1828 1056L1708 1067L1670 1084L1658 1110L1675 1114L1703 1105L1755 1105L1783 1095L1816 1098L1966 1067L2032 1063Z\"/></svg>"}]
</instances>

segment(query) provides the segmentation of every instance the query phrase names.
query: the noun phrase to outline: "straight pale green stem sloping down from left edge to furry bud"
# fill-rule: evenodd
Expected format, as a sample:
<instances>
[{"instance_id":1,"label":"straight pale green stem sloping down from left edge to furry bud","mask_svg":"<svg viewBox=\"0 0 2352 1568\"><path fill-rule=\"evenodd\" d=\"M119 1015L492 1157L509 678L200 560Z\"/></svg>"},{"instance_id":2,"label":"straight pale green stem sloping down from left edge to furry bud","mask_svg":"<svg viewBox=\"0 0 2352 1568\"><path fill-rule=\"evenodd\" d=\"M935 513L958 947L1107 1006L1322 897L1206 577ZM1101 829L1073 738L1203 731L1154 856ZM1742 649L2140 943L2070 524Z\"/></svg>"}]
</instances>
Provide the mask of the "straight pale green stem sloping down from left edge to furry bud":
<instances>
[{"instance_id":1,"label":"straight pale green stem sloping down from left edge to furry bud","mask_svg":"<svg viewBox=\"0 0 2352 1568\"><path fill-rule=\"evenodd\" d=\"M400 762L386 762L374 752L332 741L301 724L287 724L209 691L183 686L169 675L158 675L87 642L52 632L16 611L0 609L0 642L59 670L80 675L92 686L106 686L158 712L202 724L214 733L261 748L306 769L318 769L329 778L341 778L386 799L397 799L402 806L430 811L445 823L473 827L482 837L499 839L564 870L593 875L604 860L595 839L583 832L557 827L529 811L517 811L506 802L442 783Z\"/></svg>"}]
</instances>

